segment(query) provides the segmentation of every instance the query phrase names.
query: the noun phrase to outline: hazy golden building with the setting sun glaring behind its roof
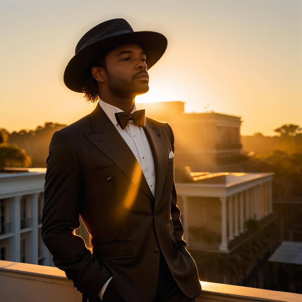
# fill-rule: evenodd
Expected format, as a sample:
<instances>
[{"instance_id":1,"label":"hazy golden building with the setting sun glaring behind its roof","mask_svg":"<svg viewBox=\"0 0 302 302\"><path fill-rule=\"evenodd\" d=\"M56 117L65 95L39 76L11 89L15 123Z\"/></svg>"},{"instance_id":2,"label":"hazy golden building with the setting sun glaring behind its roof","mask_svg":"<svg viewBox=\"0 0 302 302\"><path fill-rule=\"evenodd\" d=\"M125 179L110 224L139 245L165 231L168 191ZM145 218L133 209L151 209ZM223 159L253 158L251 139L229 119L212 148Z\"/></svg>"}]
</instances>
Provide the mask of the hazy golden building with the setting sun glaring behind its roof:
<instances>
[{"instance_id":1,"label":"hazy golden building with the setting sun glaring behind its roof","mask_svg":"<svg viewBox=\"0 0 302 302\"><path fill-rule=\"evenodd\" d=\"M211 112L184 112L185 102L137 103L146 116L168 122L175 136L179 166L195 171L228 171L240 163L241 117Z\"/></svg>"}]
</instances>

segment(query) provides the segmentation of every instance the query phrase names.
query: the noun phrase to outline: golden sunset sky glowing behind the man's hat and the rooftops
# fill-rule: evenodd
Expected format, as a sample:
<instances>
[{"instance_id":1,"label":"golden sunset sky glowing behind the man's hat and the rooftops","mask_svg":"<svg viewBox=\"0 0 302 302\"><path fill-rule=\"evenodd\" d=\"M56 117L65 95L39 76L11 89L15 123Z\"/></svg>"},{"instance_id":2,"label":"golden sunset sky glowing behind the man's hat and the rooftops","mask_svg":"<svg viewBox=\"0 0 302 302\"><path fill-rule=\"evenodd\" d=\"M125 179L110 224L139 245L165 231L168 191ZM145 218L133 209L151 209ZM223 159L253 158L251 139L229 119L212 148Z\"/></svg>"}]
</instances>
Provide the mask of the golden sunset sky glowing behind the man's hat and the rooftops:
<instances>
[{"instance_id":1,"label":"golden sunset sky glowing behind the man's hat and the rooftops","mask_svg":"<svg viewBox=\"0 0 302 302\"><path fill-rule=\"evenodd\" d=\"M137 103L181 100L185 112L241 116L242 135L302 126L302 1L1 0L0 128L90 113L95 105L64 85L63 72L82 35L113 18L168 39Z\"/></svg>"}]
</instances>

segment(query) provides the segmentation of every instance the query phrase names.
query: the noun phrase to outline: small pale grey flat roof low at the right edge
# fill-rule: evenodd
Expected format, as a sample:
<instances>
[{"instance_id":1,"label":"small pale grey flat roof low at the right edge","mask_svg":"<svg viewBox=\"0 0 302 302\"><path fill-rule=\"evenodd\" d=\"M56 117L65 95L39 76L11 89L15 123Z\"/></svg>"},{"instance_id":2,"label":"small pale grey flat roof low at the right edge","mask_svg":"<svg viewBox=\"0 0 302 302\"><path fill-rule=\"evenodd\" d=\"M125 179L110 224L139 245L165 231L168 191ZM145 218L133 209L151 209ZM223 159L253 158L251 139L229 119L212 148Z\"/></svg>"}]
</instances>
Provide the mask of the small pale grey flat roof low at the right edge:
<instances>
[{"instance_id":1,"label":"small pale grey flat roof low at the right edge","mask_svg":"<svg viewBox=\"0 0 302 302\"><path fill-rule=\"evenodd\" d=\"M302 264L302 242L282 241L281 245L268 258L271 262Z\"/></svg>"}]
</instances>

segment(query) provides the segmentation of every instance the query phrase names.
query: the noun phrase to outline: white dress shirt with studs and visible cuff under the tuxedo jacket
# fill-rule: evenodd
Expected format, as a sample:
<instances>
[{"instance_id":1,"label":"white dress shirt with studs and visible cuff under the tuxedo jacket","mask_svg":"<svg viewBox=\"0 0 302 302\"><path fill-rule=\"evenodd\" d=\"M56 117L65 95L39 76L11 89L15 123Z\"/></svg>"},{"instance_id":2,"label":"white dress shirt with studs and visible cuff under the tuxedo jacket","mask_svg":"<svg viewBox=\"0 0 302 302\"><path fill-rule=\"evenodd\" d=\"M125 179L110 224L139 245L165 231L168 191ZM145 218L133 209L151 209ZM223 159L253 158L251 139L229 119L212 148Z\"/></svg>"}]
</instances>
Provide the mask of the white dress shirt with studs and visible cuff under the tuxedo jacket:
<instances>
[{"instance_id":1,"label":"white dress shirt with studs and visible cuff under the tuxedo jacket","mask_svg":"<svg viewBox=\"0 0 302 302\"><path fill-rule=\"evenodd\" d=\"M152 151L149 145L149 141L146 137L146 133L143 130L143 127L139 127L136 124L134 124L133 120L129 120L127 126L122 129L120 125L117 123L115 113L121 112L120 108L117 108L115 106L112 106L108 103L105 103L101 99L99 99L98 104L101 106L101 108L104 110L108 118L111 120L114 127L117 129L117 131L120 133L120 135L123 137L133 154L135 155L138 163L140 164L140 167L142 168L143 174L146 178L146 181L149 185L149 188L154 196L155 194L155 169L154 169L154 161L153 161L153 155ZM134 104L134 107L130 113L133 113L134 111L137 111L136 105ZM105 289L107 288L107 285L109 281L111 280L112 276L106 281L106 283L103 285L100 293L98 294L102 300L103 294Z\"/></svg>"}]
</instances>

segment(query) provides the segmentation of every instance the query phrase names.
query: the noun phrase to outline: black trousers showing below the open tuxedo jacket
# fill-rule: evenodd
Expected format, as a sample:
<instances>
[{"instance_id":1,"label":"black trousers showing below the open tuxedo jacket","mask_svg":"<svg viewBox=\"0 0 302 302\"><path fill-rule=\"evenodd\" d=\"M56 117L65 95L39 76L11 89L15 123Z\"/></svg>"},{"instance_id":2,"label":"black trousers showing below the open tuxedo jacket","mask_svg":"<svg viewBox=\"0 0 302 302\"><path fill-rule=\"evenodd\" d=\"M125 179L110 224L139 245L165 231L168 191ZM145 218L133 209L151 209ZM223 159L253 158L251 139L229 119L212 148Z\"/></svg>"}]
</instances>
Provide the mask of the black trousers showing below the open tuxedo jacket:
<instances>
[{"instance_id":1,"label":"black trousers showing below the open tuxedo jacket","mask_svg":"<svg viewBox=\"0 0 302 302\"><path fill-rule=\"evenodd\" d=\"M170 272L162 251L160 249L159 251L159 276L156 294L153 302L195 302L195 299L189 298L180 290ZM108 283L108 286L103 295L103 302L126 302L117 293L114 284L114 278L112 278Z\"/></svg>"}]
</instances>

